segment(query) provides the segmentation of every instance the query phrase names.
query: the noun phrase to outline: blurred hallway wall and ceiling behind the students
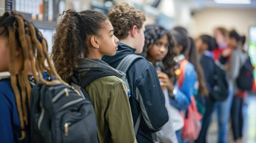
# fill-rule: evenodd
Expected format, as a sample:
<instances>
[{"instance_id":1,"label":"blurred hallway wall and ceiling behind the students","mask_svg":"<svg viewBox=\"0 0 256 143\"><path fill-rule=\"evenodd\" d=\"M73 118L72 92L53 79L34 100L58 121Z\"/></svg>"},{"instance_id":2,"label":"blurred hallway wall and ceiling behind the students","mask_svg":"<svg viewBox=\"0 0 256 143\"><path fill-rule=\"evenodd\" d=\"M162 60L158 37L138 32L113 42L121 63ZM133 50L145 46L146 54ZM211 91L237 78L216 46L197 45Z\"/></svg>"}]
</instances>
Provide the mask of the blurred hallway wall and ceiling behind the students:
<instances>
[{"instance_id":1,"label":"blurred hallway wall and ceiling behind the students","mask_svg":"<svg viewBox=\"0 0 256 143\"><path fill-rule=\"evenodd\" d=\"M125 0L0 0L0 14L16 10L33 21L48 41L51 52L58 14L74 8L77 11L97 10L104 14ZM245 49L256 67L256 0L129 0L129 4L144 11L147 24L159 24L166 29L182 26L192 38L213 35L216 27L236 29L246 36ZM7 73L0 73L0 76ZM256 70L255 70L256 75ZM256 142L256 98L248 96L245 106L244 142ZM250 98L252 97L252 98ZM217 125L213 118L208 132L208 142L217 142ZM231 130L230 130L231 133ZM232 142L232 135L229 141Z\"/></svg>"}]
</instances>

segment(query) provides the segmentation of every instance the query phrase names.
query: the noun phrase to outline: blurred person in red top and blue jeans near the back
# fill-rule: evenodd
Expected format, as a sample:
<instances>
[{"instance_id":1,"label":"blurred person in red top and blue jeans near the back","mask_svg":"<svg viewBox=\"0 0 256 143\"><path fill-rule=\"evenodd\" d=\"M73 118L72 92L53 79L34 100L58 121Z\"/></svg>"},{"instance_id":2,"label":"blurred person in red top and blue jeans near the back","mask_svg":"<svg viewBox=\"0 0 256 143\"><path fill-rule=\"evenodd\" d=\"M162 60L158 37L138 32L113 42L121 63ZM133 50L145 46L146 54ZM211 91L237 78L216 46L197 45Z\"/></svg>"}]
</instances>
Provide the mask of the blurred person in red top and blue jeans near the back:
<instances>
[{"instance_id":1,"label":"blurred person in red top and blue jeans near the back","mask_svg":"<svg viewBox=\"0 0 256 143\"><path fill-rule=\"evenodd\" d=\"M229 46L229 32L224 27L214 29L214 38L217 42L217 48L212 50L214 61L219 60L224 65L229 80L229 97L227 100L218 102L215 105L218 120L218 142L227 143L227 135L229 132L229 116L230 108L233 101L233 83L230 79L230 55L233 48Z\"/></svg>"}]
</instances>

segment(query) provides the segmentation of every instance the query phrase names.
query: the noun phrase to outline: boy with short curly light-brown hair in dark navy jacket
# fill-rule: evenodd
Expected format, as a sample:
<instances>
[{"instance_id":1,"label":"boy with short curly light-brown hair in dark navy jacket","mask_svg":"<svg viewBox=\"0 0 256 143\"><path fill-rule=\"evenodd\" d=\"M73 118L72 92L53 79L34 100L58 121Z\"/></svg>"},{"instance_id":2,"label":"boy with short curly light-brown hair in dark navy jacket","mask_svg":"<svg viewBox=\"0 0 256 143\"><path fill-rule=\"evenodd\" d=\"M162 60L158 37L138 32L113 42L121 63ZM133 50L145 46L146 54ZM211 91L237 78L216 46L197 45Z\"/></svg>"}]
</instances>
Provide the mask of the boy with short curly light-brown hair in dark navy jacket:
<instances>
[{"instance_id":1,"label":"boy with short curly light-brown hair in dark navy jacket","mask_svg":"<svg viewBox=\"0 0 256 143\"><path fill-rule=\"evenodd\" d=\"M115 56L103 57L103 60L116 68L127 55L140 54L143 51L146 16L126 3L115 5L108 16L115 35L119 38L118 51ZM143 57L134 61L126 74L131 90L129 103L134 125L142 114L137 141L153 142L152 133L161 129L169 119L158 74L155 67ZM137 89L140 96L136 93Z\"/></svg>"}]
</instances>

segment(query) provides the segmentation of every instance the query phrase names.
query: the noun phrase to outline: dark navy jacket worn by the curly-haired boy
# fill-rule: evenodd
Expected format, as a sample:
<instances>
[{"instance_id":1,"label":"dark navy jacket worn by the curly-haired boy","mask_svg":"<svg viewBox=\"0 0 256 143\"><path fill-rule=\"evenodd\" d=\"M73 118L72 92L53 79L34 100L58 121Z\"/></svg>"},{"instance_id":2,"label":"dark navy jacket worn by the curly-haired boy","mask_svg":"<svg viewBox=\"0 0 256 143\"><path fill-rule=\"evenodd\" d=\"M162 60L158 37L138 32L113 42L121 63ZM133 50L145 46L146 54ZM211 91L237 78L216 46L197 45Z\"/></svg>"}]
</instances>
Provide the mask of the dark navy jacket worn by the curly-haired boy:
<instances>
[{"instance_id":1,"label":"dark navy jacket worn by the curly-haired boy","mask_svg":"<svg viewBox=\"0 0 256 143\"><path fill-rule=\"evenodd\" d=\"M134 52L135 49L119 42L116 55L104 56L103 61L116 68L126 55L134 54ZM137 141L153 142L152 132L161 129L169 119L165 108L165 97L155 67L145 58L140 58L127 71L127 78L131 91L129 102L134 125L140 111L142 113L136 136ZM136 95L136 88L140 91L140 97Z\"/></svg>"}]
</instances>

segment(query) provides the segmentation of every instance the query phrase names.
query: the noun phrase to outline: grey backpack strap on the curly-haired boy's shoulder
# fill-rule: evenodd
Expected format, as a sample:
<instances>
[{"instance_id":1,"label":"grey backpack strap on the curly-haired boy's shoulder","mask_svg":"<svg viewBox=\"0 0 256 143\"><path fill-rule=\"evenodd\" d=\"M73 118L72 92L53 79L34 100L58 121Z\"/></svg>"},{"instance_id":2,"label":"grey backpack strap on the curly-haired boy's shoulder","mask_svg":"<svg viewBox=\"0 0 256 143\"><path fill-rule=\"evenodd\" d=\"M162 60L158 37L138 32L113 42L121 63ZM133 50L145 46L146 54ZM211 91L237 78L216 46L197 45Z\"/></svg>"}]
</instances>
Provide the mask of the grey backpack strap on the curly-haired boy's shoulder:
<instances>
[{"instance_id":1,"label":"grey backpack strap on the curly-haired boy's shoulder","mask_svg":"<svg viewBox=\"0 0 256 143\"><path fill-rule=\"evenodd\" d=\"M134 61L137 60L138 58L144 58L144 57L136 54L129 54L125 58L123 58L123 60L118 64L118 67L116 67L116 69L126 73L129 67L131 66L131 64L134 63Z\"/></svg>"}]
</instances>

